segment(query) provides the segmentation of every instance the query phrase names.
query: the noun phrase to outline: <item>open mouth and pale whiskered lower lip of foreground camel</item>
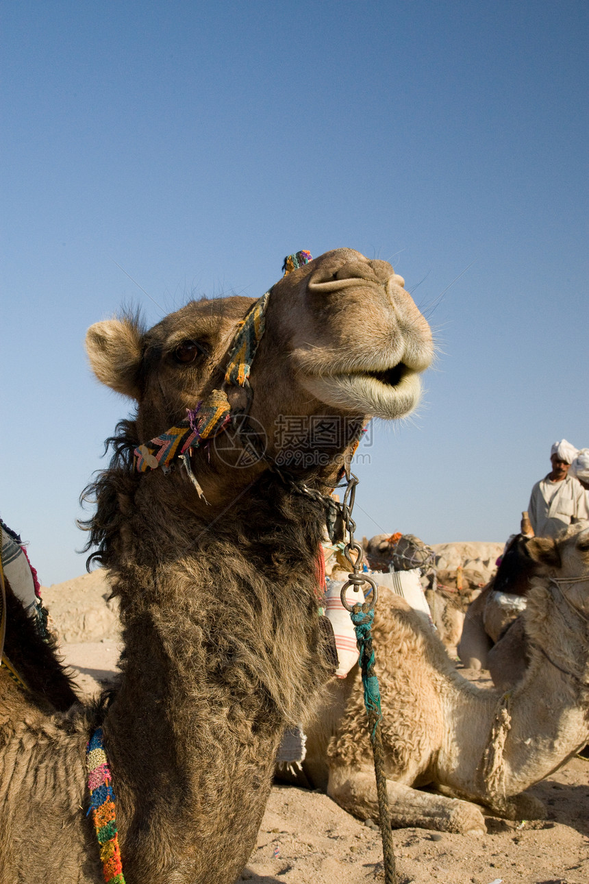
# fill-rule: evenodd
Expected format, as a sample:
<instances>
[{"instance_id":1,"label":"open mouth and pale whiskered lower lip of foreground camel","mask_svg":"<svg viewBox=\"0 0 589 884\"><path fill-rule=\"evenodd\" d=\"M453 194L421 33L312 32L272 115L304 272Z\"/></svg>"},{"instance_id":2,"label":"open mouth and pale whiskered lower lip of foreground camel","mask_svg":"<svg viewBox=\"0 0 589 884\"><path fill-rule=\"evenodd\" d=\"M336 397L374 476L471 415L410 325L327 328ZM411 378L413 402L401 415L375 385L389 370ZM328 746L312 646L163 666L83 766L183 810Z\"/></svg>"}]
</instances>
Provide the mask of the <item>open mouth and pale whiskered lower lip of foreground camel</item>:
<instances>
[{"instance_id":1,"label":"open mouth and pale whiskered lower lip of foreground camel","mask_svg":"<svg viewBox=\"0 0 589 884\"><path fill-rule=\"evenodd\" d=\"M305 377L306 389L333 408L394 420L419 403L419 372L398 362L385 370L364 370L322 377Z\"/></svg>"}]
</instances>

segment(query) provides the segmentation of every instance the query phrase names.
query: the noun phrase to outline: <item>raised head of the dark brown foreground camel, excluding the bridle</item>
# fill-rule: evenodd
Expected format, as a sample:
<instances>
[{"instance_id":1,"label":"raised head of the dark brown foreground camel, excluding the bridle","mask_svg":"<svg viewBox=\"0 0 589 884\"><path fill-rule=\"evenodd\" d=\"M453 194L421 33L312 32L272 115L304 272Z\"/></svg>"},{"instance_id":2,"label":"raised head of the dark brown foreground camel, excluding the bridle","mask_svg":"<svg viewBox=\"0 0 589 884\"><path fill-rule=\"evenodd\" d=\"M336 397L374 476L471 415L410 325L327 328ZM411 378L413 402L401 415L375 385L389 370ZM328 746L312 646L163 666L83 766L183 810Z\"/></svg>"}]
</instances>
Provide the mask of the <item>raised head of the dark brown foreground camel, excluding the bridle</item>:
<instances>
[{"instance_id":1,"label":"raised head of the dark brown foreground camel, excluding the bridle","mask_svg":"<svg viewBox=\"0 0 589 884\"><path fill-rule=\"evenodd\" d=\"M389 263L341 248L269 290L249 377L228 384L236 335L255 303L191 301L149 331L136 317L122 316L87 333L96 377L137 402L140 443L185 421L187 411L201 415L211 395L226 394L224 423L211 432L206 453L202 446L189 450L208 494L211 473L218 476L228 463L244 466L245 436L256 439L266 460L282 457L289 469L319 469L332 478L368 419L415 408L419 373L433 357L429 326L403 279ZM321 453L328 462L318 460Z\"/></svg>"}]
</instances>

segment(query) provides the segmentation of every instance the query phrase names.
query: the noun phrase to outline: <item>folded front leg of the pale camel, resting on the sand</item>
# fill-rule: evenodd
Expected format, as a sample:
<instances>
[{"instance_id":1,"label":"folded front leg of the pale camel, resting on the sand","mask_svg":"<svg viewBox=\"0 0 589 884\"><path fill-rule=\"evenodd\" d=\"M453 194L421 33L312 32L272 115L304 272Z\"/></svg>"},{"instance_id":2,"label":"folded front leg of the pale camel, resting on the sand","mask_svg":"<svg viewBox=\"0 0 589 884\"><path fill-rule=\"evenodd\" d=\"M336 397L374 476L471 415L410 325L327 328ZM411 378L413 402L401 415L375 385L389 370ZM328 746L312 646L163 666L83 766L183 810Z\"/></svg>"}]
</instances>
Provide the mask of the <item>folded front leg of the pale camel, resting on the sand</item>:
<instances>
[{"instance_id":1,"label":"folded front leg of the pale camel, resting on the sand","mask_svg":"<svg viewBox=\"0 0 589 884\"><path fill-rule=\"evenodd\" d=\"M476 804L460 798L447 798L420 792L394 780L387 780L389 812L393 828L419 827L440 832L485 834L485 819ZM328 796L344 811L359 819L378 819L378 799L374 772L354 771L332 766Z\"/></svg>"}]
</instances>

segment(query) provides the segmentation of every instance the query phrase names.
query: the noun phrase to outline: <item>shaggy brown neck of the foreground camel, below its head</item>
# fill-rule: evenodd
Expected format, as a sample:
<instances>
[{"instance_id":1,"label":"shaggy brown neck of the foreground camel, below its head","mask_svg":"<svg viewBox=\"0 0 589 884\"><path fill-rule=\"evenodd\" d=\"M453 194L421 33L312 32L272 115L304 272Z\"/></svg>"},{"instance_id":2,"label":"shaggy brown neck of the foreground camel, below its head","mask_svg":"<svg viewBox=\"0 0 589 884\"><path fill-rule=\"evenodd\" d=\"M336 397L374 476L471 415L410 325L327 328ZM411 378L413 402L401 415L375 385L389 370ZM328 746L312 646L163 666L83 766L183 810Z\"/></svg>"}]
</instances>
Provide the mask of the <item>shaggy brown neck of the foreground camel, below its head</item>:
<instances>
[{"instance_id":1,"label":"shaggy brown neck of the foreground camel, below its head","mask_svg":"<svg viewBox=\"0 0 589 884\"><path fill-rule=\"evenodd\" d=\"M138 481L125 468L107 471L93 529L124 627L103 727L125 866L131 845L132 868L153 864L153 842L141 849L146 817L174 857L178 833L198 825L208 845L191 860L200 880L221 856L230 874L245 864L283 730L331 673L313 577L321 507L264 474L210 525L206 511L178 507L183 483L182 473ZM230 880L226 865L218 880Z\"/></svg>"}]
</instances>

